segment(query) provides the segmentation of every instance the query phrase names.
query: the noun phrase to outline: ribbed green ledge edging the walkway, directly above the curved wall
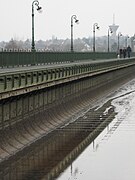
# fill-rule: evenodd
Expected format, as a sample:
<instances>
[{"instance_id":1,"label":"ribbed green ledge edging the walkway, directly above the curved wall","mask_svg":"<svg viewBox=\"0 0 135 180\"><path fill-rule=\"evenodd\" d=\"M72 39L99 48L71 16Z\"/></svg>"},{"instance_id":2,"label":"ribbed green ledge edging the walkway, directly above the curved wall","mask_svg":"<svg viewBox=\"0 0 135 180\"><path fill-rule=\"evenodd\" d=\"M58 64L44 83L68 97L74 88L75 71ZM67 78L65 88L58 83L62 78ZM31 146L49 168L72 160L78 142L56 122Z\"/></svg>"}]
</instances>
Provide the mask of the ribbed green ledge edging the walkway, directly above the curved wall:
<instances>
[{"instance_id":1,"label":"ribbed green ledge edging the walkway, directly above the curved wall","mask_svg":"<svg viewBox=\"0 0 135 180\"><path fill-rule=\"evenodd\" d=\"M135 65L135 58L2 69L0 72L0 99L132 65Z\"/></svg>"}]
</instances>

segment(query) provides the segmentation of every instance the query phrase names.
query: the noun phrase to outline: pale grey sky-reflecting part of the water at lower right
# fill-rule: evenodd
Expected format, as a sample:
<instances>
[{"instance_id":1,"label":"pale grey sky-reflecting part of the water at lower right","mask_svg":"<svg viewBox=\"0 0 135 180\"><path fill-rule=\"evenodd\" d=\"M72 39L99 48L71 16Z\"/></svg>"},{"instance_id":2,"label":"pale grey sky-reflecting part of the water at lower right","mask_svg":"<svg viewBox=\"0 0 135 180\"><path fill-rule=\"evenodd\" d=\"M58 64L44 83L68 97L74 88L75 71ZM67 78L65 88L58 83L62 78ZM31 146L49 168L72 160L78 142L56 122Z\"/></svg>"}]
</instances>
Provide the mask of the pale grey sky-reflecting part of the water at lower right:
<instances>
[{"instance_id":1,"label":"pale grey sky-reflecting part of the water at lower right","mask_svg":"<svg viewBox=\"0 0 135 180\"><path fill-rule=\"evenodd\" d=\"M117 115L58 180L135 179L135 80L112 97Z\"/></svg>"}]
</instances>

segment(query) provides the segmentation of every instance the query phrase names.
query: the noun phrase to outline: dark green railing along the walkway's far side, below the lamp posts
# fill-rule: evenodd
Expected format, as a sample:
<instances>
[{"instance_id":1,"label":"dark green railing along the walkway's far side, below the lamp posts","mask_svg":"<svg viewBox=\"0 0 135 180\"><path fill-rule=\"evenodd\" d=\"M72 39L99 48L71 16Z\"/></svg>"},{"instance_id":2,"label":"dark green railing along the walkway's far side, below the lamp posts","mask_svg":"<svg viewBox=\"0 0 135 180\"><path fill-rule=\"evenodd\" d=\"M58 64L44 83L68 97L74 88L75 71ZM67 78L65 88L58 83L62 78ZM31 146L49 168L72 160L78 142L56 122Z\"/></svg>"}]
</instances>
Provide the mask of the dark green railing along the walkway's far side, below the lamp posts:
<instances>
[{"instance_id":1,"label":"dark green railing along the walkway's far side, below the lamp posts","mask_svg":"<svg viewBox=\"0 0 135 180\"><path fill-rule=\"evenodd\" d=\"M115 52L23 52L1 51L0 67L30 66L39 64L86 61L116 58Z\"/></svg>"}]
</instances>

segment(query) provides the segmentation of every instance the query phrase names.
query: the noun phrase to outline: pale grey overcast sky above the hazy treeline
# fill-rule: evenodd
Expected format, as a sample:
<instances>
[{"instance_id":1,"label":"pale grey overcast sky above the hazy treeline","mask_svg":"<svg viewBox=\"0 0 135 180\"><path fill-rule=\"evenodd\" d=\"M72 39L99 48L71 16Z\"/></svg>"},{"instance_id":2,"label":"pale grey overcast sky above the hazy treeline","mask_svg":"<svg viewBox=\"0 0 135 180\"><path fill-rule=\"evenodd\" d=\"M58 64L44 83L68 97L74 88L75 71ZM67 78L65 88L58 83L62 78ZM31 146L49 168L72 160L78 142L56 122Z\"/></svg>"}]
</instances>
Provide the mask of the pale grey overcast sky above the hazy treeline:
<instances>
[{"instance_id":1,"label":"pale grey overcast sky above the hazy treeline","mask_svg":"<svg viewBox=\"0 0 135 180\"><path fill-rule=\"evenodd\" d=\"M11 38L31 39L32 0L0 0L0 41ZM92 36L93 24L100 30L96 36L107 35L108 25L119 25L117 32L132 36L135 33L134 0L39 0L43 8L35 12L35 40L55 37L70 38L71 16L77 15L80 23L74 23L74 38Z\"/></svg>"}]
</instances>

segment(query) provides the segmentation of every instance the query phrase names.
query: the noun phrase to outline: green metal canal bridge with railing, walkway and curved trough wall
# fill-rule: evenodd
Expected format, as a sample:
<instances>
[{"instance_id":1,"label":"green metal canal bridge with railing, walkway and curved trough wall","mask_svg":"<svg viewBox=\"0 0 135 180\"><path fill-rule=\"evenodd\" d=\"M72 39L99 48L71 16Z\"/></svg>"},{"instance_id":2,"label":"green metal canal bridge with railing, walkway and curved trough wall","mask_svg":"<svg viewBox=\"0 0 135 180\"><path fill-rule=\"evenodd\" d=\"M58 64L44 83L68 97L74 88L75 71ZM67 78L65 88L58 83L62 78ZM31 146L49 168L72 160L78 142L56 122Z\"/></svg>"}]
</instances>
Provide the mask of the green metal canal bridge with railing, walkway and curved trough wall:
<instances>
[{"instance_id":1,"label":"green metal canal bridge with railing, walkway and curved trough wall","mask_svg":"<svg viewBox=\"0 0 135 180\"><path fill-rule=\"evenodd\" d=\"M98 98L134 77L135 57L132 54L131 58L117 59L116 53L0 52L0 67L3 163L75 121Z\"/></svg>"}]
</instances>

